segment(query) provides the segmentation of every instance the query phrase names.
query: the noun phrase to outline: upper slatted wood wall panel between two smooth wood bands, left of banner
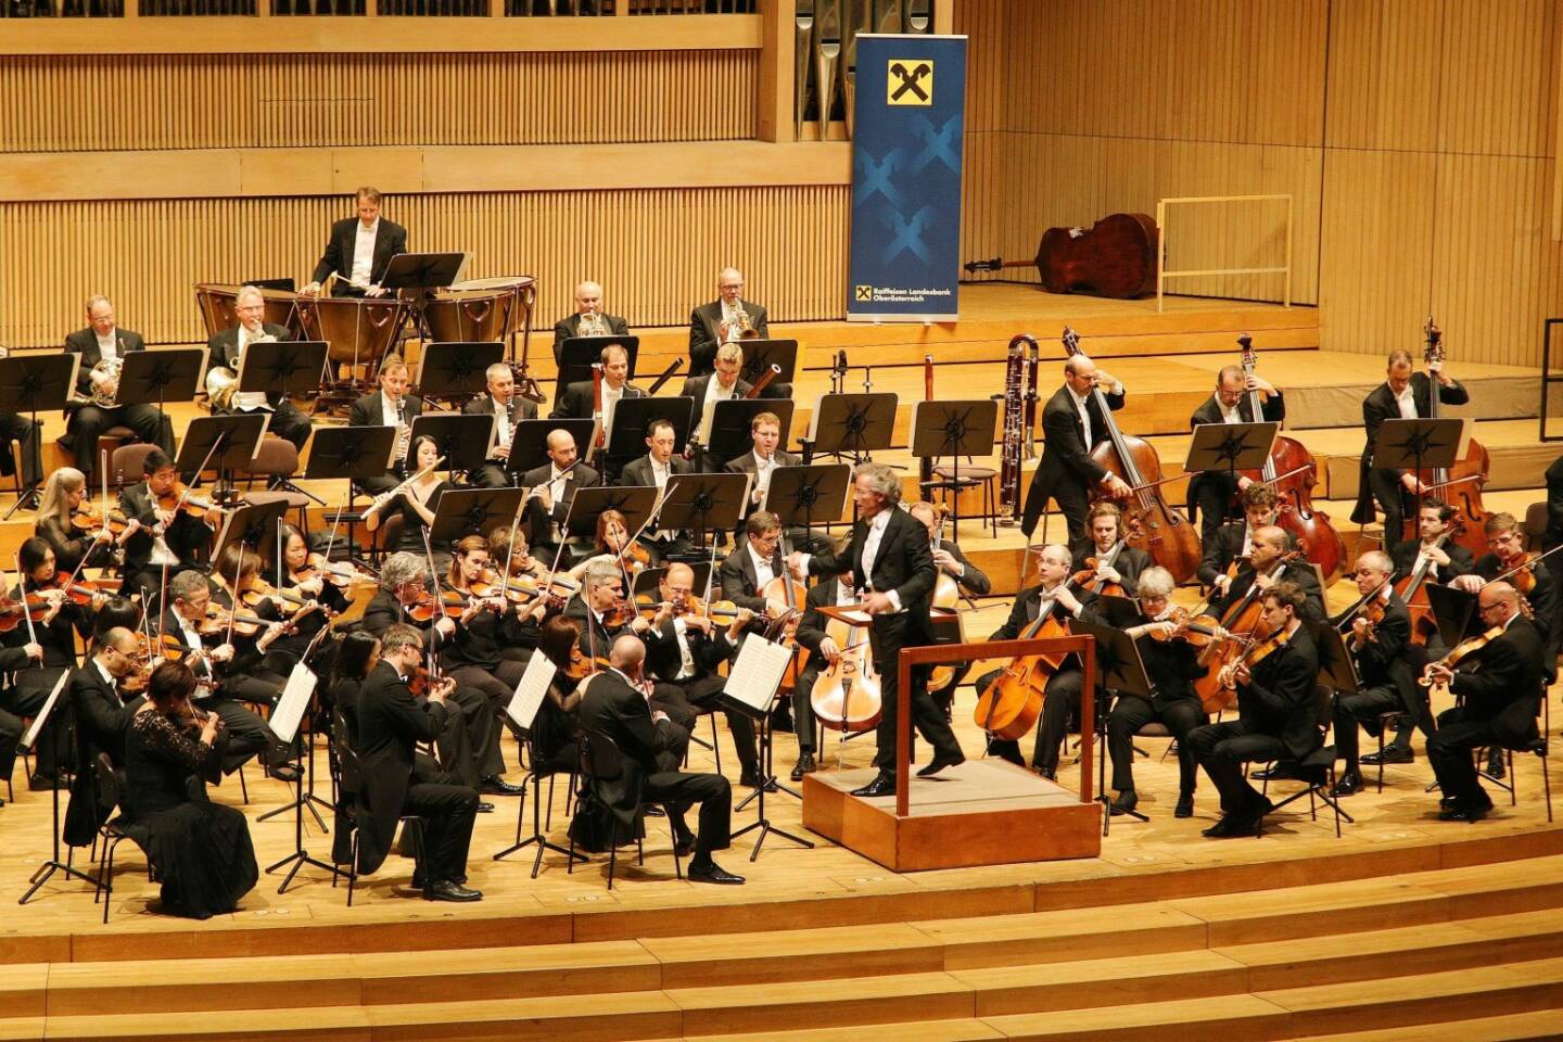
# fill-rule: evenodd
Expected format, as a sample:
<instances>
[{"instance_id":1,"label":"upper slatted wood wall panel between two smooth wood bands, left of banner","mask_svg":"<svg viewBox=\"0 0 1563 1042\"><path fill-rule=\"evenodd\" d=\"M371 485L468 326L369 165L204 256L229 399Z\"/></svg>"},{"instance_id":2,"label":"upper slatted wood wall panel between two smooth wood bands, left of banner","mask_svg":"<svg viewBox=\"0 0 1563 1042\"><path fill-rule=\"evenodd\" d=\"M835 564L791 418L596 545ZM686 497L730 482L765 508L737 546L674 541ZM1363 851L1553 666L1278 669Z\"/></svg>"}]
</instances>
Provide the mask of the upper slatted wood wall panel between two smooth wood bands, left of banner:
<instances>
[{"instance_id":1,"label":"upper slatted wood wall panel between two smooth wood bands, left of banner","mask_svg":"<svg viewBox=\"0 0 1563 1042\"><path fill-rule=\"evenodd\" d=\"M755 50L0 59L0 152L755 136Z\"/></svg>"}]
</instances>

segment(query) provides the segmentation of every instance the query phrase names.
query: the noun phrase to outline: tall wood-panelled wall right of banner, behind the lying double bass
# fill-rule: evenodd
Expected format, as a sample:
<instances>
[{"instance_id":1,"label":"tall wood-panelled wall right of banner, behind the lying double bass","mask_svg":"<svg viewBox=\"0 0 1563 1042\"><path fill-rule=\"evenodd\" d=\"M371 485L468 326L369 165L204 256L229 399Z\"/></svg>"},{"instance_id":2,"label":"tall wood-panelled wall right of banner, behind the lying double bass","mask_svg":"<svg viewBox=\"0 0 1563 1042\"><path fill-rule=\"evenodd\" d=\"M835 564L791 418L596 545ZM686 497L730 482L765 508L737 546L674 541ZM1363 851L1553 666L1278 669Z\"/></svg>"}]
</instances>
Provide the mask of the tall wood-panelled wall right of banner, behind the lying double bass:
<instances>
[{"instance_id":1,"label":"tall wood-panelled wall right of banner, behind the lying double bass","mask_svg":"<svg viewBox=\"0 0 1563 1042\"><path fill-rule=\"evenodd\" d=\"M1049 227L1153 212L1158 197L1291 192L1294 298L1321 305L1324 347L1415 347L1433 312L1461 356L1535 366L1541 320L1563 314L1558 6L963 0L963 255L1028 258ZM1280 214L1174 211L1169 264L1275 262Z\"/></svg>"}]
</instances>

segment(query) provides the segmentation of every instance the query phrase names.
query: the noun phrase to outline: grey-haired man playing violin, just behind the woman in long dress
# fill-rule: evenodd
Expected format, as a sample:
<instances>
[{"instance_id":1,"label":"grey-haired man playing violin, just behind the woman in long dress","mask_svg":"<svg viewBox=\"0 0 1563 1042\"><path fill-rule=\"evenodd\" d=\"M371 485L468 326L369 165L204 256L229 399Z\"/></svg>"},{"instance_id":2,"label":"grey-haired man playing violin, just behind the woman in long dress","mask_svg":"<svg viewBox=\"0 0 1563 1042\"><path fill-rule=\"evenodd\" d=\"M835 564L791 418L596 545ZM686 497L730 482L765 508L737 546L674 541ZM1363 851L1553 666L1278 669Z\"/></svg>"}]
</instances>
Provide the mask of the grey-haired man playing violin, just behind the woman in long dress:
<instances>
[{"instance_id":1,"label":"grey-haired man playing violin, just behind the woman in long dress","mask_svg":"<svg viewBox=\"0 0 1563 1042\"><path fill-rule=\"evenodd\" d=\"M278 689L245 675L236 662L238 650L228 641L225 619L213 598L206 576L195 570L169 580L172 605L163 612L159 630L167 658L184 661L202 687L197 705L222 717L228 744L222 750L222 773L231 775L252 756L266 764L266 773L280 781L297 781L299 767L270 725L247 709L244 701L274 705ZM275 637L274 637L275 639ZM252 648L255 644L252 642ZM253 655L253 651L252 651Z\"/></svg>"}]
</instances>

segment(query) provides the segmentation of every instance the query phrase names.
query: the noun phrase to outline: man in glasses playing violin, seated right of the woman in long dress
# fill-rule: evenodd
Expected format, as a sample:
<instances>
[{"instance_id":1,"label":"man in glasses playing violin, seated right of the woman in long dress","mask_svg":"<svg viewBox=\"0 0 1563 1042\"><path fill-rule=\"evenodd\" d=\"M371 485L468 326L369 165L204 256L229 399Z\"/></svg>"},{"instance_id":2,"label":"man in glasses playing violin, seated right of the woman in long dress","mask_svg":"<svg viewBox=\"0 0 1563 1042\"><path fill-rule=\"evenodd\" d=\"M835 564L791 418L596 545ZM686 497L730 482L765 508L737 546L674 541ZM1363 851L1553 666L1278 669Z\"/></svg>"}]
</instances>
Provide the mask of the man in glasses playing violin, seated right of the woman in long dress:
<instances>
[{"instance_id":1,"label":"man in glasses playing violin, seated right of the woman in long dress","mask_svg":"<svg viewBox=\"0 0 1563 1042\"><path fill-rule=\"evenodd\" d=\"M453 775L431 772L416 759L419 742L436 739L444 719L455 715L445 700L456 681L433 683L428 697L413 698L408 678L424 659L424 637L408 625L392 625L380 637L380 662L358 695L359 759L358 870L384 864L403 814L424 819L424 876L413 886L436 901L478 901L466 887L467 848L478 812L478 794Z\"/></svg>"}]
</instances>

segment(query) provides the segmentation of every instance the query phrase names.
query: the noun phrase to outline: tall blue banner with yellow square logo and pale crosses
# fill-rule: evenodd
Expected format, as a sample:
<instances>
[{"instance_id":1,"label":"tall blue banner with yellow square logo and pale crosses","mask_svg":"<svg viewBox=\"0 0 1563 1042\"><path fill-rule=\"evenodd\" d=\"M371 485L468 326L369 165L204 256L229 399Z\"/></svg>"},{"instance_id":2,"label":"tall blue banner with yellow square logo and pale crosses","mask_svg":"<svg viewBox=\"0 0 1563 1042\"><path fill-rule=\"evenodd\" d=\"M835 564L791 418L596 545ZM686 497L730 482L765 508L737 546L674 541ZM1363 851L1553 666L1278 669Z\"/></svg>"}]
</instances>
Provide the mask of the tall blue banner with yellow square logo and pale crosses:
<instances>
[{"instance_id":1,"label":"tall blue banner with yellow square logo and pale crosses","mask_svg":"<svg viewBox=\"0 0 1563 1042\"><path fill-rule=\"evenodd\" d=\"M953 322L960 294L964 36L858 36L852 322Z\"/></svg>"}]
</instances>

